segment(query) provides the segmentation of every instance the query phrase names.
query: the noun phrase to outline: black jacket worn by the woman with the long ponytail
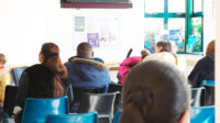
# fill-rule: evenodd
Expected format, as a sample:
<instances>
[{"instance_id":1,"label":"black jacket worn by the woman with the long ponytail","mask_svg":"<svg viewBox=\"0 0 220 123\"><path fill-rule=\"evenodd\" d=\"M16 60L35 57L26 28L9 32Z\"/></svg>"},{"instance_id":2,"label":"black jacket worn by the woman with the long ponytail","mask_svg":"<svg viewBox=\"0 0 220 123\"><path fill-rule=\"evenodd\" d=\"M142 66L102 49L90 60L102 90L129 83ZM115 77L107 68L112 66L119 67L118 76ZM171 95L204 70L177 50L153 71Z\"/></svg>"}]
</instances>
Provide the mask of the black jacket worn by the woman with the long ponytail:
<instances>
[{"instance_id":1,"label":"black jacket worn by the woman with the long ponytail","mask_svg":"<svg viewBox=\"0 0 220 123\"><path fill-rule=\"evenodd\" d=\"M26 68L19 82L18 104L23 109L26 98L53 98L52 77L54 77L53 72L43 65L34 65ZM72 85L67 78L59 80L65 89L64 94L68 97L69 107L72 108Z\"/></svg>"}]
</instances>

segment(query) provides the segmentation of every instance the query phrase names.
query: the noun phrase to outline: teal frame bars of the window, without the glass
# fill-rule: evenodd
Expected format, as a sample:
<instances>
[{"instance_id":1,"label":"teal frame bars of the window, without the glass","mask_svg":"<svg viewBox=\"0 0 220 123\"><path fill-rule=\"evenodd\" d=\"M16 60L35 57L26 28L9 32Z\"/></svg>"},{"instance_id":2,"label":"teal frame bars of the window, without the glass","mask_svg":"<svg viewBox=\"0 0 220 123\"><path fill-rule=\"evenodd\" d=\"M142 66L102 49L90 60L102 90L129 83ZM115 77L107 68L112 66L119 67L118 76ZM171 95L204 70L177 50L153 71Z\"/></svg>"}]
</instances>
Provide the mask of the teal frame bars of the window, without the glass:
<instances>
[{"instance_id":1,"label":"teal frame bars of the window, without the glass","mask_svg":"<svg viewBox=\"0 0 220 123\"><path fill-rule=\"evenodd\" d=\"M146 0L144 0L145 2ZM164 0L164 12L146 13L144 3L144 18L162 18L164 19L164 30L168 30L168 19L182 18L185 19L185 51L177 52L177 54L204 54L204 9L200 12L194 12L194 0L186 0L185 12L168 12L168 0ZM204 4L204 0L201 0ZM202 5L204 7L204 5ZM186 47L188 44L189 36L193 34L193 19L201 18L201 52L187 53ZM166 36L166 35L165 35Z\"/></svg>"}]
</instances>

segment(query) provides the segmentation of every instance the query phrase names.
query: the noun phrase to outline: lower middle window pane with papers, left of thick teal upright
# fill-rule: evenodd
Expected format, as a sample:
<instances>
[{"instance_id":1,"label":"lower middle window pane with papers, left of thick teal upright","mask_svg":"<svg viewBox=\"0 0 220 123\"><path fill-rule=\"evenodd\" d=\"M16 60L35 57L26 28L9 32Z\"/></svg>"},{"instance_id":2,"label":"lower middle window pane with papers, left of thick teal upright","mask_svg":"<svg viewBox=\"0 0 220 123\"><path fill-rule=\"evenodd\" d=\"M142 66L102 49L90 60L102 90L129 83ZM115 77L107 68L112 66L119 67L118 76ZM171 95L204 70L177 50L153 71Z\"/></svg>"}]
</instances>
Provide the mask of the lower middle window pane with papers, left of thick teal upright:
<instances>
[{"instance_id":1,"label":"lower middle window pane with papers, left of thick teal upright","mask_svg":"<svg viewBox=\"0 0 220 123\"><path fill-rule=\"evenodd\" d=\"M168 41L177 53L185 52L185 19L168 20Z\"/></svg>"}]
</instances>

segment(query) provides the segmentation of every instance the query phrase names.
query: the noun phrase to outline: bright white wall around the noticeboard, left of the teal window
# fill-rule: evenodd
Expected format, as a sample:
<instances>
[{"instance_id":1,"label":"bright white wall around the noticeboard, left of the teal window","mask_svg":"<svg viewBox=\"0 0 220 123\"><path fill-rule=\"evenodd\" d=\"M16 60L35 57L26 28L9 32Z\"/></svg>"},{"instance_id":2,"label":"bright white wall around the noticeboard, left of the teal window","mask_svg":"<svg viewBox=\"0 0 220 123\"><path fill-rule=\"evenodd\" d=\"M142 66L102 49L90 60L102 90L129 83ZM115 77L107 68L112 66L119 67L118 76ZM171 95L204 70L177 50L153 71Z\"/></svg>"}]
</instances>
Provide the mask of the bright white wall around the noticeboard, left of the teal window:
<instances>
[{"instance_id":1,"label":"bright white wall around the noticeboard, left of the teal window","mask_svg":"<svg viewBox=\"0 0 220 123\"><path fill-rule=\"evenodd\" d=\"M143 1L133 1L133 9L62 9L59 0L2 0L0 4L0 53L8 65L37 63L44 42L54 42L66 62L75 55L73 32L75 15L118 15L121 18L120 49L95 49L105 60L122 60L129 48L140 55L143 48Z\"/></svg>"}]
</instances>

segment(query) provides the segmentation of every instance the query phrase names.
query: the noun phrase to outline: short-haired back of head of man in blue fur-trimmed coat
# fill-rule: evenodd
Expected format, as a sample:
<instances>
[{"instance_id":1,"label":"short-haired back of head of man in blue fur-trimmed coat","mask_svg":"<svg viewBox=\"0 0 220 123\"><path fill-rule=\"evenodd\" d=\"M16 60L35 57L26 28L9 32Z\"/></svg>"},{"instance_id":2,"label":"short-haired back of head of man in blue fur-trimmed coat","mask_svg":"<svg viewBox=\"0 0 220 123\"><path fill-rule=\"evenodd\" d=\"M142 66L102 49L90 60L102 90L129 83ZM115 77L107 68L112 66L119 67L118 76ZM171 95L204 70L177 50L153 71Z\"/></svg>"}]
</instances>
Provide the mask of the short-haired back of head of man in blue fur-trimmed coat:
<instances>
[{"instance_id":1,"label":"short-haired back of head of man in blue fur-trimmed coat","mask_svg":"<svg viewBox=\"0 0 220 123\"><path fill-rule=\"evenodd\" d=\"M85 58L92 58L94 57L94 52L92 52L92 47L89 43L80 43L77 46L77 56L81 56Z\"/></svg>"}]
</instances>

